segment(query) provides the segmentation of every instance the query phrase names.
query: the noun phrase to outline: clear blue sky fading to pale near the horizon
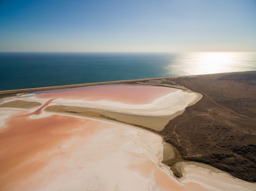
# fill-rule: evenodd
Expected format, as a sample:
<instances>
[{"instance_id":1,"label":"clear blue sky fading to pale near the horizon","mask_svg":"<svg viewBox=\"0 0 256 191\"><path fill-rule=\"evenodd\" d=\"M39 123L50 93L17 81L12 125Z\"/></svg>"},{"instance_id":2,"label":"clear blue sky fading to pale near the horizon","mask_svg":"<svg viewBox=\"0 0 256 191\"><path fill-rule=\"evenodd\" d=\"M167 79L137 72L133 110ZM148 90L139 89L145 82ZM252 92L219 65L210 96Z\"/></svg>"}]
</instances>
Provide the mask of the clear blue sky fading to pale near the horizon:
<instances>
[{"instance_id":1,"label":"clear blue sky fading to pale near the horizon","mask_svg":"<svg viewBox=\"0 0 256 191\"><path fill-rule=\"evenodd\" d=\"M256 51L256 0L0 0L0 51Z\"/></svg>"}]
</instances>

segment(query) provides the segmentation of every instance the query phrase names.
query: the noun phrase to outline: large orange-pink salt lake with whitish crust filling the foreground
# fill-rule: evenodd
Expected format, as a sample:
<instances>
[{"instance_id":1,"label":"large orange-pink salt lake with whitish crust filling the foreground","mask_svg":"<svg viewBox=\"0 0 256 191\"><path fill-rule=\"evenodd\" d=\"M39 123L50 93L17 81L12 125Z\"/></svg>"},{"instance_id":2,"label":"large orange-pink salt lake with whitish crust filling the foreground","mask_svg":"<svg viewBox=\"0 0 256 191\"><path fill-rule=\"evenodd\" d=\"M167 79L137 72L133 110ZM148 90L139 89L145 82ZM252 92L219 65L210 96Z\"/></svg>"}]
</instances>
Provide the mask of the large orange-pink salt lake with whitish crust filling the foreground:
<instances>
[{"instance_id":1,"label":"large orange-pink salt lake with whitish crust filling the foreground","mask_svg":"<svg viewBox=\"0 0 256 191\"><path fill-rule=\"evenodd\" d=\"M121 184L127 181L127 187L132 185L136 188L145 184L143 180L151 180L152 174L155 174L156 180L153 178L152 181L163 191L206 190L192 182L177 184L153 162L142 162L148 151L144 148L145 153L136 153L137 148L141 150L136 140L142 134L137 135L134 129L129 131L129 127L71 116L52 115L31 120L28 118L30 115L33 114L23 112L10 117L6 121L8 128L0 132L0 190L40 190L44 187L55 190L56 187L63 188L58 183L59 177L63 178L61 184L70 181L74 190L86 190L86 185L91 186L91 180L99 181L93 174L97 171L100 184L109 182L110 185L105 185L107 187L115 182ZM135 145L128 144L130 148L127 148L129 141ZM115 153L120 154L116 157ZM114 158L104 162L103 159L112 154ZM126 163L126 155L134 155L134 158L127 159L128 168L122 166ZM117 172L114 173L113 168ZM118 168L124 174L119 174ZM128 175L132 176L132 173L129 171L139 173L141 178L137 182L130 182L132 177ZM106 177L104 173L111 176ZM72 183L74 181L80 183Z\"/></svg>"}]
</instances>

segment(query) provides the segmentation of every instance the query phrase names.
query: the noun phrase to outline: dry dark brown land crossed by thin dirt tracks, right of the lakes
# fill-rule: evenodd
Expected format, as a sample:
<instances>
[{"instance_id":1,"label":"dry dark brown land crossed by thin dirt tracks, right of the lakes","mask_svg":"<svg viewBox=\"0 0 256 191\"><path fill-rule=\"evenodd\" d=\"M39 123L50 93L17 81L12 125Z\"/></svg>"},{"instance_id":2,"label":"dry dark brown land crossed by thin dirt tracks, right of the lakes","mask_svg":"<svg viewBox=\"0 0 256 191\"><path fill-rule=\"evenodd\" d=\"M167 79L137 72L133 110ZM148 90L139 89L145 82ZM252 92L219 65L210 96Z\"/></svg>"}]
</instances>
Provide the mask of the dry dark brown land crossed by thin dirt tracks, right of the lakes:
<instances>
[{"instance_id":1,"label":"dry dark brown land crossed by thin dirt tracks, right of the lakes","mask_svg":"<svg viewBox=\"0 0 256 191\"><path fill-rule=\"evenodd\" d=\"M159 134L184 160L256 182L256 71L177 77L162 83L184 86L203 98Z\"/></svg>"}]
</instances>

